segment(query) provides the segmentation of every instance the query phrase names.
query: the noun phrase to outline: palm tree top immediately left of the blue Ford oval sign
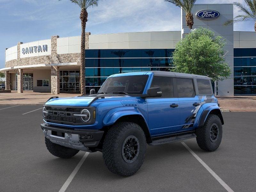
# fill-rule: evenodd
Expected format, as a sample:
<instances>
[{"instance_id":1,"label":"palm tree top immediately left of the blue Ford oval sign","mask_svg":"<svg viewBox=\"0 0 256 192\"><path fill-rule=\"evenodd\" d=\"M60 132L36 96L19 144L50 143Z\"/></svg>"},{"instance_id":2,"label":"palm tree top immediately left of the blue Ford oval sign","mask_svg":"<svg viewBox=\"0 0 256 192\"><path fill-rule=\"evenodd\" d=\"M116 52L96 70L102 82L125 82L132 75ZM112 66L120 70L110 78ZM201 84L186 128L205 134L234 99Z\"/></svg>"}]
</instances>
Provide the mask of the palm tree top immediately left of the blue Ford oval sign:
<instances>
[{"instance_id":1,"label":"palm tree top immediately left of the blue Ford oval sign","mask_svg":"<svg viewBox=\"0 0 256 192\"><path fill-rule=\"evenodd\" d=\"M186 13L186 24L188 28L192 29L194 25L194 18L192 8L196 3L196 0L164 0L170 3L175 4L176 6L180 7Z\"/></svg>"}]
</instances>

